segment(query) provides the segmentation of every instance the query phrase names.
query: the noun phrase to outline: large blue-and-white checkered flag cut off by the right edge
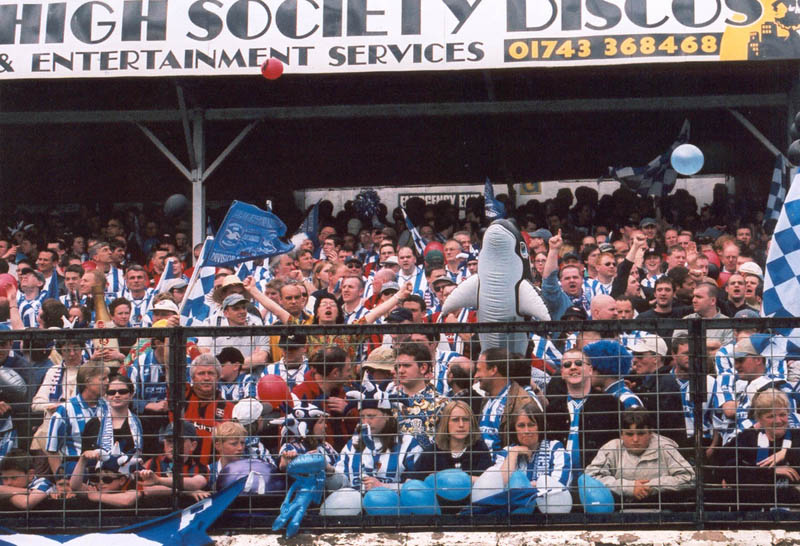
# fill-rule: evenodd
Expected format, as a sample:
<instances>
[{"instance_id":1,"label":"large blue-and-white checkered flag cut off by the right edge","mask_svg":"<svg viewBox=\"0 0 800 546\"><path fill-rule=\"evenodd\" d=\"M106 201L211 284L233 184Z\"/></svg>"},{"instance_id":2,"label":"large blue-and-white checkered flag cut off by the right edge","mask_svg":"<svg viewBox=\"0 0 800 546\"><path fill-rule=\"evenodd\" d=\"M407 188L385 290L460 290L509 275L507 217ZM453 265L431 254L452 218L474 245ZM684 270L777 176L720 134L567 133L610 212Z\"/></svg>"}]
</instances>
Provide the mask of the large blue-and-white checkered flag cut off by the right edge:
<instances>
[{"instance_id":1,"label":"large blue-and-white checkered flag cut off by the right edge","mask_svg":"<svg viewBox=\"0 0 800 546\"><path fill-rule=\"evenodd\" d=\"M765 317L800 317L800 184L795 175L783 203L764 270ZM800 328L777 330L797 343Z\"/></svg>"}]
</instances>

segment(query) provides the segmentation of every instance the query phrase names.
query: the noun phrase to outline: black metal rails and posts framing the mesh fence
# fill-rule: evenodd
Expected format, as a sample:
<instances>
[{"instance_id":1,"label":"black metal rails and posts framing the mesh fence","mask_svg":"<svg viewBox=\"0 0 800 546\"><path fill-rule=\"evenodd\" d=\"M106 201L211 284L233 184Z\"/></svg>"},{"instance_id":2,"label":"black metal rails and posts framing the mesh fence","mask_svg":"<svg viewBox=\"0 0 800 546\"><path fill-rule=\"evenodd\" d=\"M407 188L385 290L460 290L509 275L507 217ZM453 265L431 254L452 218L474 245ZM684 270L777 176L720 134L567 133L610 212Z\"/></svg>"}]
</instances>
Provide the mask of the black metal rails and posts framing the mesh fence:
<instances>
[{"instance_id":1,"label":"black metal rails and posts framing the mesh fence","mask_svg":"<svg viewBox=\"0 0 800 546\"><path fill-rule=\"evenodd\" d=\"M722 487L719 482L714 481L718 471L713 461L709 461L706 451L709 449L708 443L704 438L708 437L709 430L704 428L704 422L708 420L709 403L707 392L706 377L713 375L713 370L709 366L709 357L706 347L706 334L710 330L726 329L733 330L755 329L759 332L773 332L779 329L800 327L800 319L669 319L669 320L630 320L630 321L553 321L553 322L532 322L532 323L493 323L493 324L393 324L393 325L353 325L353 326L270 326L270 327L243 327L243 328L140 328L140 329L107 329L102 331L104 338L138 337L166 339L171 350L169 351L169 361L165 364L169 368L171 378L187 377L187 357L186 348L198 338L218 339L219 336L230 336L235 338L249 338L253 336L282 336L289 334L303 334L310 336L339 336L336 340L342 342L341 336L357 336L355 341L361 344L381 342L380 336L385 334L409 336L411 334L470 334L472 336L481 333L502 332L502 333L536 333L540 336L553 336L559 342L563 337L553 335L554 332L598 332L600 336L616 338L620 332L638 331L666 331L666 330L686 330L688 332L689 345L689 397L692 401L692 420L694 430L685 431L690 444L680 446L680 452L685 458L691 461L695 473L694 491L689 492L691 499L687 499L682 504L661 504L656 503L647 509L641 509L636 503L627 502L625 498L619 499L621 509L618 507L613 512L591 513L583 510L578 502L573 506L570 513L533 513L533 514L504 514L504 515L483 515L466 510L464 513L457 513L450 510L444 516L414 515L403 517L374 516L362 513L359 516L320 516L317 511L310 510L304 520L303 529L311 531L320 530L410 530L410 529L486 529L506 527L513 529L524 529L539 527L543 524L554 528L596 528L596 527L620 527L629 524L640 526L679 526L679 527L704 527L709 525L771 525L776 523L788 525L789 522L800 520L800 506L793 506L791 503L784 502L778 498L778 487L795 487L791 483L780 483L774 485L774 501L763 505L753 506L749 499L743 498L743 485L739 484L739 489L735 486L731 488ZM375 340L371 336L378 336ZM97 340L98 330L25 330L0 332L0 344L9 340L21 343L22 349L19 352L27 356L28 360L35 365L42 365L42 356L48 352L48 347L55 342L63 340L73 340L81 345L91 340ZM273 340L274 341L274 340ZM669 345L667 340L667 344ZM558 343L557 343L558 344ZM41 347L42 349L36 349ZM175 350L178 348L177 350ZM212 346L213 352L219 352L222 345ZM465 345L464 352L469 352L471 346ZM39 354L35 354L39 351ZM309 351L312 352L312 351ZM2 355L0 355L2 356ZM469 355L468 355L469 356ZM477 360L477 353L471 355L473 361ZM256 370L258 371L258 370ZM352 384L356 382L355 377L347 378ZM521 383L529 383L530 377L518 378ZM472 379L471 379L472 381ZM34 385L29 386L33 390ZM186 402L186 395L189 392L186 381L169 382L169 414L172 416L181 415ZM546 390L546 389L545 389ZM791 389L787 389L791 390ZM5 391L0 388L0 401ZM652 393L651 393L652 394ZM655 393L656 398L659 393ZM668 394L668 393L663 393ZM680 394L680 393L671 393ZM734 392L734 396L735 396ZM548 392L544 395L550 396ZM475 394L474 396L478 396ZM19 431L19 441L23 449L28 449L32 439L35 425L43 416L34 414L29 406L30 400L15 404L13 408L13 419ZM688 406L688 405L687 405ZM277 408L273 408L277 409ZM653 408L648 408L653 411ZM545 419L548 419L547 411L544 412ZM688 421L688 416L684 416ZM354 419L358 419L357 416ZM659 417L660 419L660 417ZM735 425L735 423L734 423ZM269 441L272 445L280 445L279 439L274 435L277 428L271 429L271 435L265 434L262 439ZM551 431L547 430L547 433ZM566 437L569 431L553 431L556 435ZM713 431L712 431L713 434ZM178 452L183 445L182 427L172 428L172 445ZM338 441L346 440L339 438ZM795 443L800 446L800 440ZM718 446L718 449L723 449ZM789 448L800 449L800 448ZM155 456L156 453L146 455ZM277 450L272 452L277 455ZM156 515L161 515L190 504L190 500L183 495L181 484L186 476L180 464L174 464L172 469L172 493L161 499L160 503L150 504L148 502L137 502L131 508L120 509L110 507L100 502L89 505L87 503L75 502L75 499L68 498L68 495L53 495L48 500L49 506L44 508L34 508L30 510L14 510L9 506L2 507L2 516L6 527L28 532L88 532L90 530L109 529L119 527L133 522L149 519ZM57 478L53 476L51 478ZM131 487L139 487L134 481ZM574 491L574 485L573 491ZM766 487L766 485L765 485ZM735 492L735 495L724 494ZM720 494L722 492L723 494ZM271 495L247 496L240 498L237 503L221 518L216 530L219 532L248 530L263 531L271 527L283 492L273 492ZM733 499L733 501L731 501ZM577 494L576 494L577 500ZM618 504L619 504L618 502ZM726 504L727 503L727 504ZM467 503L468 504L468 503ZM788 508L788 509L787 509Z\"/></svg>"}]
</instances>

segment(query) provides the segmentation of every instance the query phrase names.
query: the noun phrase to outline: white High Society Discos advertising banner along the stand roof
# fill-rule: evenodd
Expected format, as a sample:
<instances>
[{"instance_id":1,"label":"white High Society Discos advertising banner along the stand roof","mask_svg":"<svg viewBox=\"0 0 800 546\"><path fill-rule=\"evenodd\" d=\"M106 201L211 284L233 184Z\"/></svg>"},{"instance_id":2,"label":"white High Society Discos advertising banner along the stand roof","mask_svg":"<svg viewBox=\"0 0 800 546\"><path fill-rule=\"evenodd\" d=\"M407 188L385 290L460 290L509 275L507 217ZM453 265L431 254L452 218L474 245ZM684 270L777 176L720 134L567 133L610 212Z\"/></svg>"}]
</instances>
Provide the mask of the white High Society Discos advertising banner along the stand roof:
<instances>
[{"instance_id":1,"label":"white High Society Discos advertising banner along the stand roof","mask_svg":"<svg viewBox=\"0 0 800 546\"><path fill-rule=\"evenodd\" d=\"M0 78L800 58L794 0L91 0L0 5ZM800 9L800 8L798 8Z\"/></svg>"}]
</instances>

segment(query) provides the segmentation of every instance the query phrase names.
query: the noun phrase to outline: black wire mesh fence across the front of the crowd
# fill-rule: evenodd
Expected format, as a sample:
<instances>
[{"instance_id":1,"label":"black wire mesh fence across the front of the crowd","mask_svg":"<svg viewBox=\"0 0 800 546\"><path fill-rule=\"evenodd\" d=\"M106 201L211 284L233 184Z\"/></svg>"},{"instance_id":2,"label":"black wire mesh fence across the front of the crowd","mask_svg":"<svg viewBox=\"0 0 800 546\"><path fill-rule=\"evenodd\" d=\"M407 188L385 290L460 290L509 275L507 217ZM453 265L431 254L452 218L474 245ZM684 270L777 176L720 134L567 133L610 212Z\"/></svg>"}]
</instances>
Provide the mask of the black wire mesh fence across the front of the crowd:
<instances>
[{"instance_id":1,"label":"black wire mesh fence across the front of the crowd","mask_svg":"<svg viewBox=\"0 0 800 546\"><path fill-rule=\"evenodd\" d=\"M305 530L795 521L798 325L0 332L0 514L108 529L249 476L216 527L265 530L319 454Z\"/></svg>"}]
</instances>

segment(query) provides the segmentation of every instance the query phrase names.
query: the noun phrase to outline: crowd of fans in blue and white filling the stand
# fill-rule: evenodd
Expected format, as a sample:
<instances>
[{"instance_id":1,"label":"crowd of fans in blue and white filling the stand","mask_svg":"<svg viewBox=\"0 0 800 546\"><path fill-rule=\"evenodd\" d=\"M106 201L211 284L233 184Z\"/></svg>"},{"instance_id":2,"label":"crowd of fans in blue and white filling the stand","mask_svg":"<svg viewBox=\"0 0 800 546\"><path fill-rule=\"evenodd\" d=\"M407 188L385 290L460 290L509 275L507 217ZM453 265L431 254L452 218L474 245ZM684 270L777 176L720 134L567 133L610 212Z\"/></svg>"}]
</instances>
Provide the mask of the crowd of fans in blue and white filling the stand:
<instances>
[{"instance_id":1,"label":"crowd of fans in blue and white filling the stand","mask_svg":"<svg viewBox=\"0 0 800 546\"><path fill-rule=\"evenodd\" d=\"M791 356L764 356L763 332L707 331L695 423L685 331L592 328L637 317L757 318L769 236L759 216L724 187L701 211L685 192L658 206L624 190L613 205L589 188L576 197L506 203L551 319L578 321L531 334L526 354L481 347L472 334L358 328L221 330L186 347L135 333L87 343L3 338L0 383L15 384L12 370L24 385L0 400L0 502L167 503L176 462L187 502L227 483L241 460L270 476L256 492L275 493L285 491L289 463L310 452L326 459L329 492L399 489L457 468L476 489L491 482L489 491L521 471L545 499L574 493L585 474L623 509L681 510L692 506L703 464L709 506L796 502L800 369ZM244 278L217 269L205 324L475 322L474 309L441 308L478 274L482 204L459 211L411 200L407 209L416 233L399 209L388 221L385 211L359 218L348 206L333 217L320 207L319 232L296 235L294 251L250 264ZM198 251L185 231L135 213L70 226L57 215L23 221L0 235L0 274L15 281L0 284L0 329L178 326ZM162 280L169 260L175 277ZM97 320L104 308L110 323ZM185 378L172 377L174 351L186 354ZM170 400L175 381L185 384L181 407ZM577 495L568 509L581 509Z\"/></svg>"}]
</instances>

